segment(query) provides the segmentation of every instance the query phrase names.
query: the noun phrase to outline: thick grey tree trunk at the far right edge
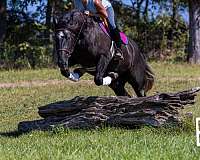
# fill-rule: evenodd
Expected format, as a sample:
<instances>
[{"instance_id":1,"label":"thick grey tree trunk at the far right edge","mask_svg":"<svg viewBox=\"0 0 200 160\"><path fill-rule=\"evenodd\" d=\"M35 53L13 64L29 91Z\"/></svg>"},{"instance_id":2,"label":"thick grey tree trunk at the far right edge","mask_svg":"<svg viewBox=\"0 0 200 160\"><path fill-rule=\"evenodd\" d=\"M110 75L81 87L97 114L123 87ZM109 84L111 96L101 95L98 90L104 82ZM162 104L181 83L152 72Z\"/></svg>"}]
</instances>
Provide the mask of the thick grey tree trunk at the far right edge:
<instances>
[{"instance_id":1,"label":"thick grey tree trunk at the far right edge","mask_svg":"<svg viewBox=\"0 0 200 160\"><path fill-rule=\"evenodd\" d=\"M190 63L200 64L200 1L189 0L189 53Z\"/></svg>"}]
</instances>

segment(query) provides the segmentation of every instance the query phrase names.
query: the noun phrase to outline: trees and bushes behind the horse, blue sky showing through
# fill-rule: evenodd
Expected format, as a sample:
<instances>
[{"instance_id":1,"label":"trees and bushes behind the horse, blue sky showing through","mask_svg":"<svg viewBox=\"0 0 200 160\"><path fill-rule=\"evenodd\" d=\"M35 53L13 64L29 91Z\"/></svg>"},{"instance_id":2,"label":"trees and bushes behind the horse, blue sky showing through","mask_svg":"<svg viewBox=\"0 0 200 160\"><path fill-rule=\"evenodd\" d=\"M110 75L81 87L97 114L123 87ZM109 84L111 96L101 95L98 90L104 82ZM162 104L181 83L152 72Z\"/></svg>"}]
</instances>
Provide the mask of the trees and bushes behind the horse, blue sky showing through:
<instances>
[{"instance_id":1,"label":"trees and bushes behind the horse, blue sky showing through","mask_svg":"<svg viewBox=\"0 0 200 160\"><path fill-rule=\"evenodd\" d=\"M149 59L200 63L199 0L111 0L118 27ZM71 0L1 0L0 68L53 66L52 17Z\"/></svg>"}]
</instances>

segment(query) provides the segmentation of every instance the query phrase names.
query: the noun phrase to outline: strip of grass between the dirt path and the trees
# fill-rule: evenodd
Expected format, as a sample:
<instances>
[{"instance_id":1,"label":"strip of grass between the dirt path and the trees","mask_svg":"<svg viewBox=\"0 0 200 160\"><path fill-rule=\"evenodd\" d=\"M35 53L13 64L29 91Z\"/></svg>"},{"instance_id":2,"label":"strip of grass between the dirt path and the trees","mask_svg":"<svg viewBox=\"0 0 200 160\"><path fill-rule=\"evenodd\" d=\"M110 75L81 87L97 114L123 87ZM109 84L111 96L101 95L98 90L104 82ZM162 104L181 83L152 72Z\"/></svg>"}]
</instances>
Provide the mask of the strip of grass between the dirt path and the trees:
<instances>
[{"instance_id":1,"label":"strip of grass between the dirt path and the trees","mask_svg":"<svg viewBox=\"0 0 200 160\"><path fill-rule=\"evenodd\" d=\"M155 72L157 80L170 79L185 79L185 78L200 78L199 65L183 64L169 64L165 62L151 63L151 67ZM64 80L65 78L60 74L59 69L38 69L38 70L11 70L0 71L0 82L19 82L19 81L33 81L33 80ZM86 75L82 79L93 79Z\"/></svg>"}]
</instances>

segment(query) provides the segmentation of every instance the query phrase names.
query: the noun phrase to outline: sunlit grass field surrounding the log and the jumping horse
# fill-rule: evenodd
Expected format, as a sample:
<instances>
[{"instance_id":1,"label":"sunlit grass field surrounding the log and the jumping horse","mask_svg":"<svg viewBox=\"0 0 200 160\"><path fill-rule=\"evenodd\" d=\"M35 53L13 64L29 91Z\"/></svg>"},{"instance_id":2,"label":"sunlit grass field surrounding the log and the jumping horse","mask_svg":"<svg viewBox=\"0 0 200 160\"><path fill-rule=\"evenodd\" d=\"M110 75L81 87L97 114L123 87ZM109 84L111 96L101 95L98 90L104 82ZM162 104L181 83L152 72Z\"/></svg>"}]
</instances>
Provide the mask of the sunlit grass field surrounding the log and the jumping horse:
<instances>
[{"instance_id":1,"label":"sunlit grass field surrounding the log and the jumping horse","mask_svg":"<svg viewBox=\"0 0 200 160\"><path fill-rule=\"evenodd\" d=\"M150 91L173 92L200 86L200 66L152 63L156 83ZM91 79L86 75L83 79ZM36 80L64 80L56 69L1 71L0 83ZM131 88L127 85L129 92ZM99 130L33 131L18 135L17 124L38 119L37 107L70 99L78 95L114 95L107 87L94 84L51 84L42 87L0 89L0 159L130 159L130 160L199 160L195 130L183 128L149 128L136 130L103 128ZM197 103L185 110L200 117Z\"/></svg>"}]
</instances>

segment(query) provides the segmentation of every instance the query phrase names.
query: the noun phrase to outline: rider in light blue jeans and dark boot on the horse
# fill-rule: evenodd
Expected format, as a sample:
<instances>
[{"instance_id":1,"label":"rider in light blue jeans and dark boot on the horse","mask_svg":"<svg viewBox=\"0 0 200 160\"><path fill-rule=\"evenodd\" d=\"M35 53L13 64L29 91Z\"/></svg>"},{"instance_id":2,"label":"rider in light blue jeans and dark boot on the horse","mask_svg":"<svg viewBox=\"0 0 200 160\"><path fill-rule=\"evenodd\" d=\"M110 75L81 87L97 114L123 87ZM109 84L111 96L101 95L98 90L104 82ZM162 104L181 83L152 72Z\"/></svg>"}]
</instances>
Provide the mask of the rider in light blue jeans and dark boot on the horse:
<instances>
[{"instance_id":1,"label":"rider in light blue jeans and dark boot on the horse","mask_svg":"<svg viewBox=\"0 0 200 160\"><path fill-rule=\"evenodd\" d=\"M115 24L114 10L108 0L74 0L75 8L81 11L89 11L92 14L98 14L109 27L111 37L115 41L116 51L115 57L117 59L124 59L121 51L121 38L118 28ZM87 12L85 12L87 13Z\"/></svg>"}]
</instances>

